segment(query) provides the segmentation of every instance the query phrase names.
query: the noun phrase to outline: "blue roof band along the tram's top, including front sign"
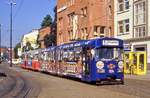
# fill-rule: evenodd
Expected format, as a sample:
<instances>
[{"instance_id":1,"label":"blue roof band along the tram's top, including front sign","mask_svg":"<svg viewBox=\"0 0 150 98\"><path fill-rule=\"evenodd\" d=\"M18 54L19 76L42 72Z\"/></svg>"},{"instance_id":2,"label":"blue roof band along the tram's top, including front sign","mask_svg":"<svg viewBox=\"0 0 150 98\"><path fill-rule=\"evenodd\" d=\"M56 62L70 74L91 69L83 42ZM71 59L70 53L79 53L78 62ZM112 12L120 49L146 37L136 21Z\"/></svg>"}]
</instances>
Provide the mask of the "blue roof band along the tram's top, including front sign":
<instances>
[{"instance_id":1,"label":"blue roof band along the tram's top, including front sign","mask_svg":"<svg viewBox=\"0 0 150 98\"><path fill-rule=\"evenodd\" d=\"M106 41L105 44L103 41ZM109 43L108 43L109 42ZM115 43L116 42L116 43ZM51 46L45 49L42 49L42 52L46 52L46 51L52 51L54 50L56 47L58 49L65 49L65 48L73 48L73 47L84 47L84 46L88 46L88 47L94 47L94 48L98 48L101 46L116 46L116 47L123 47L123 40L118 39L118 38L108 38L108 37L103 37L103 38L96 38L96 39L91 39L91 40L80 40L80 41L76 41L76 42L72 42L72 43L66 43L60 46Z\"/></svg>"}]
</instances>

